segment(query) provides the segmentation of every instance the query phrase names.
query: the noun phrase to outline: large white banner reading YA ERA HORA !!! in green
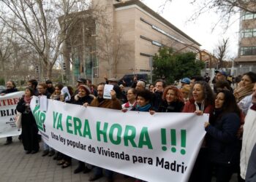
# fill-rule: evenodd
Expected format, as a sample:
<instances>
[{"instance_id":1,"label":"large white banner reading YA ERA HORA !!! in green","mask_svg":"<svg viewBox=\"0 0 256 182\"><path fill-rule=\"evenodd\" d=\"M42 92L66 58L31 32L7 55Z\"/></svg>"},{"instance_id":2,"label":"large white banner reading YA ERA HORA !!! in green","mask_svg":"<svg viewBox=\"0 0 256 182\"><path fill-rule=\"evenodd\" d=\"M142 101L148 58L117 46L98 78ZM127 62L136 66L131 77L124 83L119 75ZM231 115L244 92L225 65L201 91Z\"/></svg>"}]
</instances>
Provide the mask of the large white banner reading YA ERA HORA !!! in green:
<instances>
[{"instance_id":1,"label":"large white banner reading YA ERA HORA !!! in green","mask_svg":"<svg viewBox=\"0 0 256 182\"><path fill-rule=\"evenodd\" d=\"M208 115L122 111L31 101L43 140L70 157L145 181L187 181Z\"/></svg>"}]
</instances>

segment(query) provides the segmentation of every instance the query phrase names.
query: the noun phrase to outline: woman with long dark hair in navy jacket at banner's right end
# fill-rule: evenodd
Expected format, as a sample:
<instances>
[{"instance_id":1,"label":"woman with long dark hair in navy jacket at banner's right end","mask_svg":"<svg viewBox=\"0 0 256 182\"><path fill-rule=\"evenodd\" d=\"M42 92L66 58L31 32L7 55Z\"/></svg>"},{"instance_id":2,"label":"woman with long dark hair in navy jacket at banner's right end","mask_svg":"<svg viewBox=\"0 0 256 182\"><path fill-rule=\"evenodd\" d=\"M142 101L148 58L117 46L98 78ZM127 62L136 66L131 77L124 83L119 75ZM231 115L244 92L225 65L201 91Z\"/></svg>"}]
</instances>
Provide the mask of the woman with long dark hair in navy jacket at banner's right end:
<instances>
[{"instance_id":1,"label":"woman with long dark hair in navy jacket at banner's right end","mask_svg":"<svg viewBox=\"0 0 256 182\"><path fill-rule=\"evenodd\" d=\"M215 167L216 181L230 181L233 169L239 163L239 140L237 132L240 127L241 111L236 98L228 90L222 90L215 99L214 114L210 122L205 122L208 146L208 179L211 181L212 169Z\"/></svg>"}]
</instances>

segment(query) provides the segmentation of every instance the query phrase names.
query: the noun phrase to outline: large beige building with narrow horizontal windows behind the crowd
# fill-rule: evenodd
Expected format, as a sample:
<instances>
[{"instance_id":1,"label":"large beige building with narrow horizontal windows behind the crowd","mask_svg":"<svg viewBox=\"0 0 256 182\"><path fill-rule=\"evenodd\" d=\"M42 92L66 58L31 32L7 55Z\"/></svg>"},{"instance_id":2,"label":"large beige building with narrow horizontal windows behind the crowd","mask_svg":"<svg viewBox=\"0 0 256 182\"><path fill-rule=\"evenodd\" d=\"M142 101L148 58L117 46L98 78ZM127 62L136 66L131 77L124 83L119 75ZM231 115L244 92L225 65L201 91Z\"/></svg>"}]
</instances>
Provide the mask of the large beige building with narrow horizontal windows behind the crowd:
<instances>
[{"instance_id":1,"label":"large beige building with narrow horizontal windows behind the crowd","mask_svg":"<svg viewBox=\"0 0 256 182\"><path fill-rule=\"evenodd\" d=\"M91 12L80 12L65 42L64 57L75 76L102 82L104 76L150 74L149 58L159 47L198 52L200 44L141 1L94 0ZM68 61L69 63L69 61Z\"/></svg>"}]
</instances>

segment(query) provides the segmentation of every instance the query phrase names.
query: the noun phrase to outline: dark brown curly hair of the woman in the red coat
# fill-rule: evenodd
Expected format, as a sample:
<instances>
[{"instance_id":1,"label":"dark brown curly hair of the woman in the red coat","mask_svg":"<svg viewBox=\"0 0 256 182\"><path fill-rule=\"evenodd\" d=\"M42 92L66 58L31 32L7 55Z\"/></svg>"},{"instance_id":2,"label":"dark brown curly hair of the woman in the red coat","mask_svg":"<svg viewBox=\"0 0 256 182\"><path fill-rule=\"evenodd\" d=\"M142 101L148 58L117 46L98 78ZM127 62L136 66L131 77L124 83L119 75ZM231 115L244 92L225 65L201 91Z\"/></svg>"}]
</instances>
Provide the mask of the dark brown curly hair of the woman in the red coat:
<instances>
[{"instance_id":1,"label":"dark brown curly hair of the woman in the red coat","mask_svg":"<svg viewBox=\"0 0 256 182\"><path fill-rule=\"evenodd\" d=\"M200 84L203 87L203 100L206 106L214 105L214 92L211 90L210 85L205 81L197 81L195 82L195 84ZM194 87L195 87L195 84L194 84ZM190 95L192 95L193 89L190 90L190 92L191 92Z\"/></svg>"}]
</instances>

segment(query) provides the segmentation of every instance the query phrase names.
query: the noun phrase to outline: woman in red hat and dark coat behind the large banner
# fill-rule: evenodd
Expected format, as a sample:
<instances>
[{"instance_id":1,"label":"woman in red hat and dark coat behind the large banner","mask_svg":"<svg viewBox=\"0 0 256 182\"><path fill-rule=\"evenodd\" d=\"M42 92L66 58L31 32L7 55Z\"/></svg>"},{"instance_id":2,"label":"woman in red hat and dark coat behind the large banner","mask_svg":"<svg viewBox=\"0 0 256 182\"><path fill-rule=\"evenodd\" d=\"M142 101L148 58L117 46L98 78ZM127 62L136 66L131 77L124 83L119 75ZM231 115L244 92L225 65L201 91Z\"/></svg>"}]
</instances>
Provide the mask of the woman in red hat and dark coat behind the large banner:
<instances>
[{"instance_id":1,"label":"woman in red hat and dark coat behind the large banner","mask_svg":"<svg viewBox=\"0 0 256 182\"><path fill-rule=\"evenodd\" d=\"M94 100L94 95L90 95L90 93L90 88L87 85L80 84L78 86L78 94L75 95L72 103L80 106L88 106L91 103L91 101ZM83 171L83 173L89 173L91 171L91 165L82 161L79 161L78 163L79 165L74 171L75 174L80 173L81 171ZM63 166L66 165L69 165L68 161L66 161L66 163L64 163Z\"/></svg>"}]
</instances>

